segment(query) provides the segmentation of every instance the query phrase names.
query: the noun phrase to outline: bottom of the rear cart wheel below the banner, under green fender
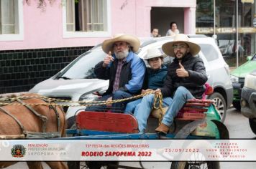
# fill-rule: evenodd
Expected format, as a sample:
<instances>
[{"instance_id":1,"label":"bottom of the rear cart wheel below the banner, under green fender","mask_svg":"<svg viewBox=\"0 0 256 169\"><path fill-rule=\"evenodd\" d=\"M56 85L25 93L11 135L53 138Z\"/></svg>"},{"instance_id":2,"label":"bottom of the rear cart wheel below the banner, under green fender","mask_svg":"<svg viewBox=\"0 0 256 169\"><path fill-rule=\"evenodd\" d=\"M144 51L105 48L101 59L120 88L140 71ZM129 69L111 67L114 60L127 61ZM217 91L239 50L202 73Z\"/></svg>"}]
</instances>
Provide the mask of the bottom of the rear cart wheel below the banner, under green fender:
<instances>
[{"instance_id":1,"label":"bottom of the rear cart wheel below the banner, under green fender","mask_svg":"<svg viewBox=\"0 0 256 169\"><path fill-rule=\"evenodd\" d=\"M219 162L216 161L180 161L173 162L170 169L219 169Z\"/></svg>"}]
</instances>

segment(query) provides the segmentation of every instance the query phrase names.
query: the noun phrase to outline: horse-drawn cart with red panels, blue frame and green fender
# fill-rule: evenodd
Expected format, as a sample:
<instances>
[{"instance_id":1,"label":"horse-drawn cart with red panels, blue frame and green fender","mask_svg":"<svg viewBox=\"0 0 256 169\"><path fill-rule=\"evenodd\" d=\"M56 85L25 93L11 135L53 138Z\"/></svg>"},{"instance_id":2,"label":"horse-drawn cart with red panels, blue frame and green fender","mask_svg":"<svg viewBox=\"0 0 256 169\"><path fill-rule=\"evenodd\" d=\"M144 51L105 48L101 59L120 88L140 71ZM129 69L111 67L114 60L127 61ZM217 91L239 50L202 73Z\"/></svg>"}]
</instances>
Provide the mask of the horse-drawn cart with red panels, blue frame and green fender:
<instances>
[{"instance_id":1,"label":"horse-drawn cart with red panels, blue frame and green fender","mask_svg":"<svg viewBox=\"0 0 256 169\"><path fill-rule=\"evenodd\" d=\"M212 100L188 100L186 106L178 113L174 125L167 135L155 133L161 117L152 113L147 122L147 132L138 131L137 120L133 115L114 112L81 111L76 115L76 123L67 130L70 139L83 140L157 140L157 139L228 139L227 127L220 122L220 115ZM159 120L160 122L160 120ZM197 145L201 146L201 145ZM170 158L166 157L167 161ZM187 160L175 161L170 168L219 168L219 162ZM145 162L143 162L145 164ZM144 168L140 161L141 168ZM115 161L70 161L70 168L132 168L119 165Z\"/></svg>"}]
</instances>

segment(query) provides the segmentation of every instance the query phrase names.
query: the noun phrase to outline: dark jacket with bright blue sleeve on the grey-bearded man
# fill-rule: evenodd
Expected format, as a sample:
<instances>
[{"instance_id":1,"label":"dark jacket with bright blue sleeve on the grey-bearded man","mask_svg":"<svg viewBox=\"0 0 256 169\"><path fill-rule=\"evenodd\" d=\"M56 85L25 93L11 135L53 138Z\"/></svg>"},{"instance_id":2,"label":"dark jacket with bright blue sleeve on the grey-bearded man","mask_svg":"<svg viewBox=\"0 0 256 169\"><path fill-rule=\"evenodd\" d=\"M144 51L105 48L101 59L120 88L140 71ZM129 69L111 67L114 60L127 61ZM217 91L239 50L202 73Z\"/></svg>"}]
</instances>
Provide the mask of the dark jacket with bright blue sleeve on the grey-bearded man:
<instances>
[{"instance_id":1,"label":"dark jacket with bright blue sleeve on the grey-bearded man","mask_svg":"<svg viewBox=\"0 0 256 169\"><path fill-rule=\"evenodd\" d=\"M113 91L114 79L116 77L116 69L118 60L113 54L114 61L109 64L108 67L103 67L103 61L96 64L94 73L99 79L109 79L109 88L104 95L109 95ZM145 77L145 63L137 54L129 52L127 60L124 63L119 79L119 90L129 92L131 94L137 94L142 89L142 84Z\"/></svg>"}]
</instances>

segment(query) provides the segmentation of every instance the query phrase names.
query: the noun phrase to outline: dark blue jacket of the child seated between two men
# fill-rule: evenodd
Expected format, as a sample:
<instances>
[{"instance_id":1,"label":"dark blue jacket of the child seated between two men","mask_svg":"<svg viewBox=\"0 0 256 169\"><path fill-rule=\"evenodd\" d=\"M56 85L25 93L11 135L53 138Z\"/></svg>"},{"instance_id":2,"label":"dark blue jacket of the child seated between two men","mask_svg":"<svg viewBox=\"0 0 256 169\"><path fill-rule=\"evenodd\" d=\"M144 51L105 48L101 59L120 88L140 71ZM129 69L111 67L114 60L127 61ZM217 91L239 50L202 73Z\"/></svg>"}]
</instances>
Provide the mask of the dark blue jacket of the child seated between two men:
<instances>
[{"instance_id":1,"label":"dark blue jacket of the child seated between two men","mask_svg":"<svg viewBox=\"0 0 256 169\"><path fill-rule=\"evenodd\" d=\"M147 69L147 89L156 90L163 87L168 69L162 65L161 69Z\"/></svg>"}]
</instances>

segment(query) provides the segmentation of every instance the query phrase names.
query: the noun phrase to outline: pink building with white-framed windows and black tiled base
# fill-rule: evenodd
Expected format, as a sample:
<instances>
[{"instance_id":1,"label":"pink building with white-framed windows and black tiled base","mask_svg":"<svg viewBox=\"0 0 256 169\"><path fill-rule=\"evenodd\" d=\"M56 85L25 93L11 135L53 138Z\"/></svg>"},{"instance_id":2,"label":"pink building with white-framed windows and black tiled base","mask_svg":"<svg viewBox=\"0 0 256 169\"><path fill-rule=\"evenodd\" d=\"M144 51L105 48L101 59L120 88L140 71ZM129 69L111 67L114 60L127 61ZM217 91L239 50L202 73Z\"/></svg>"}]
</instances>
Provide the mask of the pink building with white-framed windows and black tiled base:
<instances>
[{"instance_id":1,"label":"pink building with white-framed windows and black tiled base","mask_svg":"<svg viewBox=\"0 0 256 169\"><path fill-rule=\"evenodd\" d=\"M196 0L0 0L0 93L29 90L116 33L196 32Z\"/></svg>"}]
</instances>

